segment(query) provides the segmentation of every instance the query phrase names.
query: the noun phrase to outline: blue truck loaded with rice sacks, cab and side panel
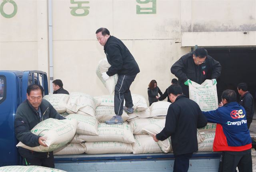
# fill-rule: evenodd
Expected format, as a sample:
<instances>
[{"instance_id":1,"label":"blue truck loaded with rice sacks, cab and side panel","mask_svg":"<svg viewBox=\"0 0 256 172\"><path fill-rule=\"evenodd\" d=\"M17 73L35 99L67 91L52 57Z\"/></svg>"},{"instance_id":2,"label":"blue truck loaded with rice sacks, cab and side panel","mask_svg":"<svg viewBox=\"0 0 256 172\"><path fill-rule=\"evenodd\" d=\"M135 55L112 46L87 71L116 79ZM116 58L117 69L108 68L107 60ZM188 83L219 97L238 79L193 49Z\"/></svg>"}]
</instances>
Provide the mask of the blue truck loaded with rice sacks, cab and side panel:
<instances>
[{"instance_id":1,"label":"blue truck loaded with rice sacks, cab and side panel","mask_svg":"<svg viewBox=\"0 0 256 172\"><path fill-rule=\"evenodd\" d=\"M26 100L30 84L40 84L48 94L47 74L42 71L0 70L0 166L22 165L14 133L18 106ZM163 154L97 154L54 156L55 168L67 172L170 172L172 153ZM217 172L220 154L196 152L190 160L189 172Z\"/></svg>"}]
</instances>

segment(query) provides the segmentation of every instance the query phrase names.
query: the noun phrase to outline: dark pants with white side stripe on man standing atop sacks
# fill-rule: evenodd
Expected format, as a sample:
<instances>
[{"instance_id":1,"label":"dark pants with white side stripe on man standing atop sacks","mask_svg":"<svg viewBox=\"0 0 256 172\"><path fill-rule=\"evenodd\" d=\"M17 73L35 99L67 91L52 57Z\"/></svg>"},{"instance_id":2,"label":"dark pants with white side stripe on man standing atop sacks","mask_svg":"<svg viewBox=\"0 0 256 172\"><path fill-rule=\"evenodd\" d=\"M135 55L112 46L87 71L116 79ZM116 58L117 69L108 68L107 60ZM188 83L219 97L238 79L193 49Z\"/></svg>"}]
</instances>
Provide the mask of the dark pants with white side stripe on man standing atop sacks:
<instances>
[{"instance_id":1,"label":"dark pants with white side stripe on man standing atop sacks","mask_svg":"<svg viewBox=\"0 0 256 172\"><path fill-rule=\"evenodd\" d=\"M123 114L123 106L125 100L125 106L131 108L132 104L132 95L130 92L130 86L134 81L136 75L119 75L115 87L115 96L114 96L114 109L116 115Z\"/></svg>"}]
</instances>

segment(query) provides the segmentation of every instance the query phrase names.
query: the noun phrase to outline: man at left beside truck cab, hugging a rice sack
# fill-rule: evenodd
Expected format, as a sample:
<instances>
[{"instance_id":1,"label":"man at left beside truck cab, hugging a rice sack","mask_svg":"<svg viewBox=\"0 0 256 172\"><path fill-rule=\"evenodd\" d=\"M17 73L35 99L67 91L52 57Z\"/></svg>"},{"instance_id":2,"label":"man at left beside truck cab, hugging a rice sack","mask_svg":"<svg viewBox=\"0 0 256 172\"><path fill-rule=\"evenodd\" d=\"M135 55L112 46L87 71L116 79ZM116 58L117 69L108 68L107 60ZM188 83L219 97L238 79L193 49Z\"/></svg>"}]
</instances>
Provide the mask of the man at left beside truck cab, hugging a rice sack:
<instances>
[{"instance_id":1,"label":"man at left beside truck cab, hugging a rice sack","mask_svg":"<svg viewBox=\"0 0 256 172\"><path fill-rule=\"evenodd\" d=\"M41 121L54 118L65 119L52 105L43 98L43 88L40 85L30 85L27 88L27 100L18 107L14 120L14 129L18 141L29 147L37 147L44 143L44 137L34 135L30 132ZM20 155L24 158L26 165L46 166L54 168L53 152L34 152L18 147Z\"/></svg>"}]
</instances>

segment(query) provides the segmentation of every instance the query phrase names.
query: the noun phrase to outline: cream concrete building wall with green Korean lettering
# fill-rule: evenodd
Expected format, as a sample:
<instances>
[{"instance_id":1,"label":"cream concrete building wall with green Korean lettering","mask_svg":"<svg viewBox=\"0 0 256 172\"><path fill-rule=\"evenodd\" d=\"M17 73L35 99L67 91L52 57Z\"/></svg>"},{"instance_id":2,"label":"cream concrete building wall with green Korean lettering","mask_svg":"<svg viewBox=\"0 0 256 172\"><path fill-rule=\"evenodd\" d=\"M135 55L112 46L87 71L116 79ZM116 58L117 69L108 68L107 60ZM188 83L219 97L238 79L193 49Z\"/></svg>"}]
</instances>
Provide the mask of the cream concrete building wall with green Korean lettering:
<instances>
[{"instance_id":1,"label":"cream concrete building wall with green Korean lettering","mask_svg":"<svg viewBox=\"0 0 256 172\"><path fill-rule=\"evenodd\" d=\"M14 2L18 7L15 16L5 18L0 15L0 70L48 72L47 1ZM78 2L84 9L76 10L76 15L72 9ZM256 46L255 1L139 2L145 0L75 0L74 3L72 0L53 0L54 79L61 79L69 92L85 92L93 96L108 94L95 74L98 61L105 57L103 47L96 40L95 31L99 27L108 28L135 57L141 72L131 90L146 98L152 79L164 92L174 78L170 67L194 45L234 46L232 34L242 34L235 46ZM4 12L10 14L12 11L13 6L6 3ZM140 14L145 12L148 14ZM85 15L79 16L82 13ZM250 34L244 36L244 31ZM230 35L225 44L214 36L220 33Z\"/></svg>"}]
</instances>

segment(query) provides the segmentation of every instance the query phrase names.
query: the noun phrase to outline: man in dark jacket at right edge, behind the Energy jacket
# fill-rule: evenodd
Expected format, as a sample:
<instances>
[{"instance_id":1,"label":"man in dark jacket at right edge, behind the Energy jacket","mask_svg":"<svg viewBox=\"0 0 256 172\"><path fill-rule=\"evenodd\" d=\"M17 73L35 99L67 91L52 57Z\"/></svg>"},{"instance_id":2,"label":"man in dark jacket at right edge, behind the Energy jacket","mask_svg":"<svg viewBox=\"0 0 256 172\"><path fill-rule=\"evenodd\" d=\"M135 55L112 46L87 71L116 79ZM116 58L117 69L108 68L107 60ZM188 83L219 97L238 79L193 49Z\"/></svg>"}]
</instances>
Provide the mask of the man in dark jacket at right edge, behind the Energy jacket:
<instances>
[{"instance_id":1,"label":"man in dark jacket at right edge, behind the Energy jacket","mask_svg":"<svg viewBox=\"0 0 256 172\"><path fill-rule=\"evenodd\" d=\"M249 129L250 125L252 123L252 118L253 118L253 114L254 114L253 97L252 97L252 94L250 94L250 92L248 92L246 83L238 84L237 90L241 96L239 104L242 107L244 107L244 109L246 111L247 127Z\"/></svg>"}]
</instances>

